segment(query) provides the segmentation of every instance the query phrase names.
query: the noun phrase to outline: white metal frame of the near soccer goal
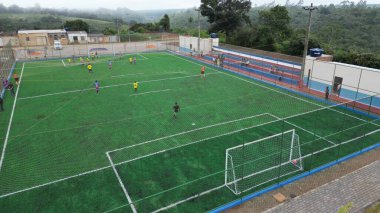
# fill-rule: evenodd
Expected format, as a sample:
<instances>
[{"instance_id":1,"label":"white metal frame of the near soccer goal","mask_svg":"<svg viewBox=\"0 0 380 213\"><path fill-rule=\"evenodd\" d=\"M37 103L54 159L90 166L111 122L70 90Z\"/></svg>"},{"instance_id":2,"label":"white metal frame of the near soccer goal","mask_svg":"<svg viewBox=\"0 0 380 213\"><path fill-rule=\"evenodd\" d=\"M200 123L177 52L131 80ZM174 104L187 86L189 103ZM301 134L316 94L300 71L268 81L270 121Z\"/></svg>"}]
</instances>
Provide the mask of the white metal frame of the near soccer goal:
<instances>
[{"instance_id":1,"label":"white metal frame of the near soccer goal","mask_svg":"<svg viewBox=\"0 0 380 213\"><path fill-rule=\"evenodd\" d=\"M286 160L285 162L283 162L281 160L281 163L278 164L278 165L275 165L275 166L272 166L272 167L269 167L269 168L266 168L266 169L263 169L263 170L260 170L260 171L257 171L257 172L253 172L253 173L248 174L248 175L244 175L243 177L236 177L233 156L231 154L229 154L229 152L231 150L242 148L242 147L249 146L249 145L252 145L252 144L256 144L258 142L262 142L262 141L265 141L265 140L268 140L268 139L271 139L271 138L282 137L285 134L292 134L292 137L291 137L292 141L291 141L291 145L290 145L290 148L289 148L289 150L290 150L289 151L289 158L287 158L288 160ZM279 144L279 146L281 146L281 145ZM288 149L288 148L285 148L285 150L286 149ZM298 154L297 154L296 157L293 156L294 151L298 152ZM282 150L281 150L281 152L282 152ZM296 162L297 162L296 164L293 163L294 160L296 160ZM296 134L295 129L292 129L292 130L288 130L288 131L285 131L285 132L282 132L282 133L278 133L278 134L275 134L275 135L272 135L272 136L269 136L269 137L265 137L265 138L262 138L262 139L259 139L259 140L255 140L255 141L252 141L252 142L249 142L249 143L245 143L245 144L241 144L241 145L238 145L238 146L234 146L234 147L228 148L228 149L226 149L226 162L225 163L226 164L225 164L224 185L228 189L230 189L235 195L239 195L239 194L241 194L243 192L249 191L249 190L251 190L251 189L253 189L255 187L258 187L258 186L263 185L265 183L268 183L270 181L276 180L276 179L278 179L280 177L283 177L283 176L286 176L286 175L290 175L290 174L298 172L298 171L302 171L303 170L303 163L302 163L301 148L300 148L300 144L299 144L299 136ZM243 181L244 179L248 179L248 178L251 178L251 177L256 176L256 175L263 174L265 172L270 172L273 169L281 169L281 167L283 167L283 166L291 166L291 167L294 167L294 168L291 171L279 172L279 175L277 175L276 177L269 178L269 179L267 179L267 180L265 180L265 181L263 181L261 183L249 186L249 187L247 187L245 189L240 189L241 188L241 187L239 187L239 182L240 181ZM228 178L229 175L231 176L231 178ZM231 179L232 179L232 181L230 181Z\"/></svg>"}]
</instances>

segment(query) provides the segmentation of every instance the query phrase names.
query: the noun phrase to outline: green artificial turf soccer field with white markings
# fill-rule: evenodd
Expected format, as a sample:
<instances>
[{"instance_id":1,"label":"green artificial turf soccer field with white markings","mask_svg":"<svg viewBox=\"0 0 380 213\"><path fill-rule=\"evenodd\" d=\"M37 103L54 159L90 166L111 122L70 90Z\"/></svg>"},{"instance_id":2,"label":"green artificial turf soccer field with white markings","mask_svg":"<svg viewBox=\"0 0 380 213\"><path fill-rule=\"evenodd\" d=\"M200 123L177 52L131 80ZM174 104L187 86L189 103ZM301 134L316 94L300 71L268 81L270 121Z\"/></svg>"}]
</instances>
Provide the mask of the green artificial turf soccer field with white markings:
<instances>
[{"instance_id":1,"label":"green artificial turf soccer field with white markings","mask_svg":"<svg viewBox=\"0 0 380 213\"><path fill-rule=\"evenodd\" d=\"M7 94L0 117L0 209L204 212L380 141L379 120L350 104L212 66L202 79L203 64L169 52L130 56L100 57L91 74L65 60L16 65L16 100ZM302 169L285 162L285 137L271 140L289 131ZM226 150L261 139L232 167L231 192Z\"/></svg>"}]
</instances>

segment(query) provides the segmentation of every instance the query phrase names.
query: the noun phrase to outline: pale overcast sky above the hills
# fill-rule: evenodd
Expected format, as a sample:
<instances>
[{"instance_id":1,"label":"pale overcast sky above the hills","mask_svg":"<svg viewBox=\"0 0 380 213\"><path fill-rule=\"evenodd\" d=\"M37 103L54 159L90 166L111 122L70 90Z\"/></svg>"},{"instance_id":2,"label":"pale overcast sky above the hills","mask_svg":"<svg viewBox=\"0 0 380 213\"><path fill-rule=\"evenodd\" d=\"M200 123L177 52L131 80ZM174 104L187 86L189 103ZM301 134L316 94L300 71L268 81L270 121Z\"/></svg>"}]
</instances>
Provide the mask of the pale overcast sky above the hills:
<instances>
[{"instance_id":1,"label":"pale overcast sky above the hills","mask_svg":"<svg viewBox=\"0 0 380 213\"><path fill-rule=\"evenodd\" d=\"M272 0L252 0L252 5L262 5ZM299 0L291 0L297 3ZM315 5L339 4L343 0L304 0L304 4L313 2ZM358 2L359 0L350 0ZM286 0L276 0L277 4L284 4ZM76 8L76 9L96 9L99 7L115 9L125 7L132 10L152 10L152 9L179 9L190 8L200 5L200 0L1 0L5 6L17 4L21 7L31 7L36 3L47 8ZM380 0L367 0L368 4L379 4Z\"/></svg>"}]
</instances>

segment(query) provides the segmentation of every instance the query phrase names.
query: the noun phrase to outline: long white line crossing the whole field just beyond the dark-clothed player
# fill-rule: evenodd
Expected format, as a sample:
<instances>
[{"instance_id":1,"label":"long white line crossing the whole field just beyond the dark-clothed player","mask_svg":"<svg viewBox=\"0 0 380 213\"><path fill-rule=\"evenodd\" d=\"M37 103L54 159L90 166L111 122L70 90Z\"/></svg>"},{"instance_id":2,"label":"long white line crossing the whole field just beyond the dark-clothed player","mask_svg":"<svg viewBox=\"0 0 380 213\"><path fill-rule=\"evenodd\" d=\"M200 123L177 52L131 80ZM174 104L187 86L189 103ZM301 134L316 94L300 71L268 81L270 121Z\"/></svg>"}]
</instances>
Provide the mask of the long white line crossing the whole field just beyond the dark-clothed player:
<instances>
[{"instance_id":1,"label":"long white line crossing the whole field just beyond the dark-clothed player","mask_svg":"<svg viewBox=\"0 0 380 213\"><path fill-rule=\"evenodd\" d=\"M218 73L209 73L208 75L213 75L213 74L218 74ZM173 78L162 78L162 79L149 80L149 81L140 81L139 83L150 83L150 82L167 81L167 80L175 80L175 79L191 78L191 77L199 77L199 75L187 75L187 76L173 77ZM112 88L112 87L121 87L121 86L127 86L127 85L132 85L132 84L133 83L115 84L115 85L100 87L100 89ZM46 97L46 96L62 95L62 94L76 93L76 92L84 92L84 91L89 91L89 90L94 90L94 88L78 89L78 90L70 90L70 91L64 91L64 92L48 93L48 94L44 94L44 95L29 96L29 97L25 97L25 98L19 98L19 100L35 99L35 98L41 98L41 97Z\"/></svg>"}]
</instances>

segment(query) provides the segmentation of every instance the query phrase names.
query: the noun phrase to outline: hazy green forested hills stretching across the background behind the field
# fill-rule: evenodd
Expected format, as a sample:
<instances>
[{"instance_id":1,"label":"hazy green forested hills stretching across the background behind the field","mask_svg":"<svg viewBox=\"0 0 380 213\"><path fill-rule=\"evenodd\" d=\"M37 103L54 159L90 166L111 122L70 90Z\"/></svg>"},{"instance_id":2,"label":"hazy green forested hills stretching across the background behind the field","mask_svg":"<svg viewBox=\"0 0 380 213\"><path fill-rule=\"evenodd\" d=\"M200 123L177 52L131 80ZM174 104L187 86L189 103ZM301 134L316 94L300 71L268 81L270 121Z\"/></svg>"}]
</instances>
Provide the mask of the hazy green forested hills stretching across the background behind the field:
<instances>
[{"instance_id":1,"label":"hazy green forested hills stretching across the background behind the field","mask_svg":"<svg viewBox=\"0 0 380 213\"><path fill-rule=\"evenodd\" d=\"M165 29L160 24L164 14L168 14L170 20ZM236 28L232 25L234 29L231 32L213 28L215 26L208 22L207 16L200 16L201 35L207 37L216 31L222 41L230 44L302 55L308 17L308 12L302 9L302 1L285 6L271 2L250 8L246 15L249 21L236 24ZM123 38L127 34L152 31L198 34L198 12L195 8L80 11L45 9L38 5L32 8L5 7L0 4L0 33L3 34L15 34L20 29L63 28L66 21L76 19L88 23L91 33L115 34L120 27ZM357 4L344 1L339 5L322 5L313 12L309 47L323 48L325 53L334 55L336 61L380 68L379 32L380 5L366 5L363 0Z\"/></svg>"}]
</instances>

